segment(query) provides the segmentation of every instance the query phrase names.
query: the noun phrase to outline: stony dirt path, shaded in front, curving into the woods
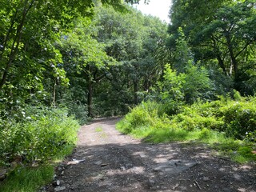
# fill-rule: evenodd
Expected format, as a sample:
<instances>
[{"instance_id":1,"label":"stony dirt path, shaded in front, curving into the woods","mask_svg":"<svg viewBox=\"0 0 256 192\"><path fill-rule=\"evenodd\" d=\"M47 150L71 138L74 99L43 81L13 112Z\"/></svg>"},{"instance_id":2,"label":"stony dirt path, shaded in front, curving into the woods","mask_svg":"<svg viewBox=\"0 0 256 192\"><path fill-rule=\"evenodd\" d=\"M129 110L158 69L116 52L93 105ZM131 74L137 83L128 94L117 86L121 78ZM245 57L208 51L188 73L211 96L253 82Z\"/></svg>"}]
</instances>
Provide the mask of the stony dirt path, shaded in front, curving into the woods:
<instances>
[{"instance_id":1,"label":"stony dirt path, shaded in front, curving into the woods","mask_svg":"<svg viewBox=\"0 0 256 192\"><path fill-rule=\"evenodd\" d=\"M45 191L256 192L255 166L216 158L206 146L150 145L120 134L117 118L82 126L78 147Z\"/></svg>"}]
</instances>

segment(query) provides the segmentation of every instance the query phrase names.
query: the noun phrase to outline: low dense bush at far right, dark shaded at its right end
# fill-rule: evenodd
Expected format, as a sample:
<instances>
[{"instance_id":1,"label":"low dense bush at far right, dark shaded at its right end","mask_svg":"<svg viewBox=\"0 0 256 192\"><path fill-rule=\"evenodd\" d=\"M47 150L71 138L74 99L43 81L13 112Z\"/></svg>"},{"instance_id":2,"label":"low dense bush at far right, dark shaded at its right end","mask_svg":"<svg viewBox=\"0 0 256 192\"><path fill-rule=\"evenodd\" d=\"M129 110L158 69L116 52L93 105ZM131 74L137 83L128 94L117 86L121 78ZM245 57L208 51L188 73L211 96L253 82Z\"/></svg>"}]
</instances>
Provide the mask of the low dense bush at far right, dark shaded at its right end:
<instances>
[{"instance_id":1,"label":"low dense bush at far right, dark shaded at its right end","mask_svg":"<svg viewBox=\"0 0 256 192\"><path fill-rule=\"evenodd\" d=\"M181 113L172 116L171 124L185 130L218 130L228 137L255 141L256 98L242 98L238 92L234 98L183 106Z\"/></svg>"}]
</instances>

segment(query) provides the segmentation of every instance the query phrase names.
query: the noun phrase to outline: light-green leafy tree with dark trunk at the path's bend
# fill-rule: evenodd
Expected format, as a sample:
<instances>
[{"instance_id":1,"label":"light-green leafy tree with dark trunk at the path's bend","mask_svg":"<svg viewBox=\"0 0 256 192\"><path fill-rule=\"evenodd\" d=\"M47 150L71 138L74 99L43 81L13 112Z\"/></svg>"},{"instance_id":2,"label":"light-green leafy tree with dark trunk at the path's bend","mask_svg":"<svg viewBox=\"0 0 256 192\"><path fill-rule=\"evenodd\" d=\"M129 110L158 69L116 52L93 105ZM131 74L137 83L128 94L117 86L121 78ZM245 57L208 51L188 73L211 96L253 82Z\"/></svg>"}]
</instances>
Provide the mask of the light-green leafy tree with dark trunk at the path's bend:
<instances>
[{"instance_id":1,"label":"light-green leafy tree with dark trunk at the path's bend","mask_svg":"<svg viewBox=\"0 0 256 192\"><path fill-rule=\"evenodd\" d=\"M94 26L90 19L79 18L74 30L62 34L61 50L65 61L65 69L71 80L71 87L77 86L74 81L76 76L86 82L84 89L87 90L86 101L88 115L93 117L93 86L106 76L106 69L114 65L114 59L109 57L102 43L92 38Z\"/></svg>"}]
</instances>

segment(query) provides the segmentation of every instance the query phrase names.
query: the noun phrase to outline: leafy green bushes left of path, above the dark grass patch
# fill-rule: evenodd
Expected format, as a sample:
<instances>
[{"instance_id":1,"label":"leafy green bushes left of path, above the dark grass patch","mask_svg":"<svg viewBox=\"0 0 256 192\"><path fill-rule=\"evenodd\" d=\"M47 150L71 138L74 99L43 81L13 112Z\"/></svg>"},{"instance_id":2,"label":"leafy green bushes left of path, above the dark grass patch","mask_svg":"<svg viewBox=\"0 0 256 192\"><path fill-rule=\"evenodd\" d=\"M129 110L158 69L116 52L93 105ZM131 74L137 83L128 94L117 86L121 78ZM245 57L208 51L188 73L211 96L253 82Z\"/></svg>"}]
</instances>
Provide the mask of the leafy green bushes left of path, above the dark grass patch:
<instances>
[{"instance_id":1,"label":"leafy green bushes left of path, above the dark grass patch","mask_svg":"<svg viewBox=\"0 0 256 192\"><path fill-rule=\"evenodd\" d=\"M1 162L10 163L19 156L25 162L46 161L76 142L78 122L65 110L27 109L26 121L2 120Z\"/></svg>"}]
</instances>

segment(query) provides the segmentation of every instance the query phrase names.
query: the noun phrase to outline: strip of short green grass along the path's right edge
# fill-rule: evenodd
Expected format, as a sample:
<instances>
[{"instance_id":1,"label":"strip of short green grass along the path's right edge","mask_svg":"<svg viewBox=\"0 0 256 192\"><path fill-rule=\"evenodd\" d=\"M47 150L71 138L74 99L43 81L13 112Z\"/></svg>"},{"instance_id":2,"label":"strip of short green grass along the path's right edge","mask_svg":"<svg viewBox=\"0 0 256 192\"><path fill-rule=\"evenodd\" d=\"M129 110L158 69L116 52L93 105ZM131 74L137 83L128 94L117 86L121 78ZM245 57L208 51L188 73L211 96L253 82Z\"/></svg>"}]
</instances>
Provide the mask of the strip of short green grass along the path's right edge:
<instances>
[{"instance_id":1,"label":"strip of short green grass along the path's right edge","mask_svg":"<svg viewBox=\"0 0 256 192\"><path fill-rule=\"evenodd\" d=\"M122 133L122 122L118 122L117 129ZM127 133L126 133L127 134ZM224 133L218 131L183 130L183 129L154 129L142 126L130 132L134 138L142 138L144 142L191 142L206 143L210 148L217 150L218 155L226 156L238 163L256 162L256 154L253 154L255 146L250 142L226 138Z\"/></svg>"}]
</instances>

